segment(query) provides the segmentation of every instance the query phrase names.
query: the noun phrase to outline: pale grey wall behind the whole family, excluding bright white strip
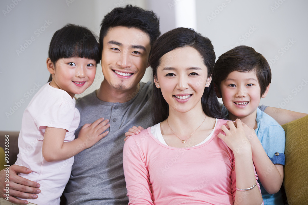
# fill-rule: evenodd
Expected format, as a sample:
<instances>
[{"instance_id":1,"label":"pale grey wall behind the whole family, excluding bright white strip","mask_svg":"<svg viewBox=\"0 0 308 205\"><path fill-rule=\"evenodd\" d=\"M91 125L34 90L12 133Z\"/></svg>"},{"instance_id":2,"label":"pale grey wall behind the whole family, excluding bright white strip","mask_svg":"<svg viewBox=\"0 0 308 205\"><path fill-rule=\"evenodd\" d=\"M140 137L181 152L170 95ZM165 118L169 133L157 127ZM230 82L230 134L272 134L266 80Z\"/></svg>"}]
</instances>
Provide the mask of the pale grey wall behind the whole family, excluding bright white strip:
<instances>
[{"instance_id":1,"label":"pale grey wall behind the whole family, excluding bright white strip","mask_svg":"<svg viewBox=\"0 0 308 205\"><path fill-rule=\"evenodd\" d=\"M20 129L22 113L36 93L36 85L41 86L47 82L48 46L56 30L67 23L74 23L87 26L98 35L99 25L105 14L115 6L131 3L158 14L161 31L164 33L175 28L175 7L181 1L188 0L2 0L0 130ZM272 12L270 6L275 6L274 0L196 0L196 28L212 40L217 57L234 47L237 42L252 46L268 61L277 56L279 59L276 62L272 60L274 63L271 66L273 79L270 92L261 103L274 107L282 104L283 108L308 113L308 69L305 64L308 45L308 39L305 37L308 15L305 8L308 2L276 2L281 5L276 5L277 10ZM225 7L222 6L223 3ZM208 16L211 17L212 12L217 14L209 21ZM185 15L186 18L193 18L191 14L183 12L183 16ZM247 34L250 27L255 29L253 32L250 30L251 34ZM249 37L243 42L242 38L239 38L245 34ZM295 42L289 48L286 47L288 50L282 55L279 49L288 46L289 40L292 39ZM22 49L22 53L17 53L16 50L20 50L24 44L29 45ZM150 76L149 68L142 81L148 81ZM91 90L98 88L103 79L100 65L96 77ZM85 91L85 94L91 90ZM290 100L285 103L288 96Z\"/></svg>"}]
</instances>

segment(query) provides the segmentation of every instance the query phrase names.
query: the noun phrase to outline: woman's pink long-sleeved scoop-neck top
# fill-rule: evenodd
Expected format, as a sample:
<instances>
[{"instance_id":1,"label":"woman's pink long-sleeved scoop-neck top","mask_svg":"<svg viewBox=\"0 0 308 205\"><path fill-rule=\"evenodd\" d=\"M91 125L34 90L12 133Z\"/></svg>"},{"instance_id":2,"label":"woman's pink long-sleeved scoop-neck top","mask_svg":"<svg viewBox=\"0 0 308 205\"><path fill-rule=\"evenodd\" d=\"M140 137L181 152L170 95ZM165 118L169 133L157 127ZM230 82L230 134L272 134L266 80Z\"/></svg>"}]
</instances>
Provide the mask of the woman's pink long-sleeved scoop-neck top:
<instances>
[{"instance_id":1,"label":"woman's pink long-sleeved scoop-neck top","mask_svg":"<svg viewBox=\"0 0 308 205\"><path fill-rule=\"evenodd\" d=\"M234 156L217 137L226 122L218 119L210 139L194 147L164 145L151 128L129 137L123 152L128 204L233 204Z\"/></svg>"}]
</instances>

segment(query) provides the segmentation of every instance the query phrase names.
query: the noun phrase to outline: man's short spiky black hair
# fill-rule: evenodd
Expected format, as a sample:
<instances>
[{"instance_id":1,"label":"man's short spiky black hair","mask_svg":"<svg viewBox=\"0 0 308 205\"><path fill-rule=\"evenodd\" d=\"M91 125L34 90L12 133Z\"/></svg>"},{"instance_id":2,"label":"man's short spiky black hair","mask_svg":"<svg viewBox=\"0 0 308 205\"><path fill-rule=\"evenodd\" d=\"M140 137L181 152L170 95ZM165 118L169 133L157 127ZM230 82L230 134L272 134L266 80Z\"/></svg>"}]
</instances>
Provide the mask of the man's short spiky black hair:
<instances>
[{"instance_id":1,"label":"man's short spiky black hair","mask_svg":"<svg viewBox=\"0 0 308 205\"><path fill-rule=\"evenodd\" d=\"M99 33L99 52L103 50L103 39L110 28L125 26L137 28L145 32L150 37L150 44L160 36L159 17L150 10L144 10L137 6L127 5L126 7L116 7L111 10L102 20Z\"/></svg>"}]
</instances>

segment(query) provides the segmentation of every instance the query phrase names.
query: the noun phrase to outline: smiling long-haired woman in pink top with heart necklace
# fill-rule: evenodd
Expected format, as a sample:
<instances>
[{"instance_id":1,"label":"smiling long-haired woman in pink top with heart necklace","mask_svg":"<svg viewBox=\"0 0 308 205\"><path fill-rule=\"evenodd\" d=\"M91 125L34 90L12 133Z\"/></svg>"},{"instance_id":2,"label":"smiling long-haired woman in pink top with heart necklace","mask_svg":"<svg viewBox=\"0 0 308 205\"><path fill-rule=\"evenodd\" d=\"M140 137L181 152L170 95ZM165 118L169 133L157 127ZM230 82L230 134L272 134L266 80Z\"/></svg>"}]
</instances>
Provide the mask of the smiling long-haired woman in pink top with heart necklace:
<instances>
[{"instance_id":1,"label":"smiling long-haired woman in pink top with heart necklace","mask_svg":"<svg viewBox=\"0 0 308 205\"><path fill-rule=\"evenodd\" d=\"M241 121L219 119L214 63L211 41L191 29L153 45L156 125L124 144L129 204L262 203Z\"/></svg>"}]
</instances>

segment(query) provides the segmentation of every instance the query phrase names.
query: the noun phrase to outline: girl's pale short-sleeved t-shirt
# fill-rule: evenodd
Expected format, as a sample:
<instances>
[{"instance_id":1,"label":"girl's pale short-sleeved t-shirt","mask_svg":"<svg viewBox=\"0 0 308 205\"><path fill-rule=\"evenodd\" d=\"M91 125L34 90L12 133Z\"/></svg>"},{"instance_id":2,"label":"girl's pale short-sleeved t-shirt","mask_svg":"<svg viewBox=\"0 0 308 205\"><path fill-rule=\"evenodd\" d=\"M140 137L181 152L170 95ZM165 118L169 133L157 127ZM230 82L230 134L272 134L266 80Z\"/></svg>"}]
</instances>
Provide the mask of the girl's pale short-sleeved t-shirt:
<instances>
[{"instance_id":1,"label":"girl's pale short-sleeved t-shirt","mask_svg":"<svg viewBox=\"0 0 308 205\"><path fill-rule=\"evenodd\" d=\"M35 204L59 204L60 196L71 174L74 157L47 162L42 147L46 127L66 129L64 142L74 140L80 114L75 99L49 83L34 95L22 116L22 128L18 137L18 159L15 164L30 168L33 172L20 176L38 182L41 193L37 199L25 199ZM57 136L55 136L57 137Z\"/></svg>"}]
</instances>

